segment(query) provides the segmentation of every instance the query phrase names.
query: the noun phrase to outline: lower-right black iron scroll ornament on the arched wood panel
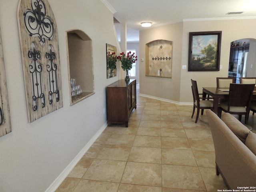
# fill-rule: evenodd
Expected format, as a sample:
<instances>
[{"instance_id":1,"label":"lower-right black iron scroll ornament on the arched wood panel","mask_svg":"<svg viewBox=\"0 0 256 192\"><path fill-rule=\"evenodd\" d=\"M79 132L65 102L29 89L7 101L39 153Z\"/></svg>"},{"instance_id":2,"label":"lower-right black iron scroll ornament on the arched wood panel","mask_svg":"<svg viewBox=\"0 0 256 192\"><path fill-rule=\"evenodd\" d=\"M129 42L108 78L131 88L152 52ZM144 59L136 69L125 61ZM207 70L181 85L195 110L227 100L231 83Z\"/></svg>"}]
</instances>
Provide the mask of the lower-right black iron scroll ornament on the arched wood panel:
<instances>
[{"instance_id":1,"label":"lower-right black iron scroll ornament on the arched wood panel","mask_svg":"<svg viewBox=\"0 0 256 192\"><path fill-rule=\"evenodd\" d=\"M48 60L47 72L48 72L48 87L49 87L49 100L50 104L52 104L52 94L56 94L56 101L60 100L59 90L58 90L58 79L57 79L57 65L54 63L56 59L55 52L52 51L53 47L51 45L48 46L48 52L46 52L45 56Z\"/></svg>"}]
</instances>

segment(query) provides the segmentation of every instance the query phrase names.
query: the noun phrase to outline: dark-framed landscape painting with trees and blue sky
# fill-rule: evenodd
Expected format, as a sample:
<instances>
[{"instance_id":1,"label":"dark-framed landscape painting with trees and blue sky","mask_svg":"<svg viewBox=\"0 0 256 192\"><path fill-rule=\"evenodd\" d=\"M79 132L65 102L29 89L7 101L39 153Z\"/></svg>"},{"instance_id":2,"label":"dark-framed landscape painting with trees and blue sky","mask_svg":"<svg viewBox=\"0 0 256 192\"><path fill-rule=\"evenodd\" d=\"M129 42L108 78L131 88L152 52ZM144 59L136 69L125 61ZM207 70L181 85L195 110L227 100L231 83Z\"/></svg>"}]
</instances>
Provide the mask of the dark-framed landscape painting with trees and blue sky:
<instances>
[{"instance_id":1,"label":"dark-framed landscape painting with trees and blue sky","mask_svg":"<svg viewBox=\"0 0 256 192\"><path fill-rule=\"evenodd\" d=\"M190 32L188 71L220 70L221 31Z\"/></svg>"}]
</instances>

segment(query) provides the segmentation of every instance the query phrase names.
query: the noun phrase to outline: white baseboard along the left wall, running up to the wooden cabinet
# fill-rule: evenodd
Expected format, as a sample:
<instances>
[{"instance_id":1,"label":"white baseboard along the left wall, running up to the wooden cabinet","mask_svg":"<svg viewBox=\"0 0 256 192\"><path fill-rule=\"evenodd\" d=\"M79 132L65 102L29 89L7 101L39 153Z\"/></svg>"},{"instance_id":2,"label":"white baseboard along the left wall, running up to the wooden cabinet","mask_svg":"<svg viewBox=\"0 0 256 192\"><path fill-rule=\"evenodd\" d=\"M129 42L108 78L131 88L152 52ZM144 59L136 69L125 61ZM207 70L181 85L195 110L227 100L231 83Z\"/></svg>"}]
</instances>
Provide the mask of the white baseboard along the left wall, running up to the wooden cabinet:
<instances>
[{"instance_id":1,"label":"white baseboard along the left wall, running up to the wooden cabinet","mask_svg":"<svg viewBox=\"0 0 256 192\"><path fill-rule=\"evenodd\" d=\"M84 146L84 148L77 154L77 156L70 162L70 164L61 172L61 174L52 182L52 184L46 189L45 192L55 192L72 169L76 166L79 160L84 156L87 150L92 146L92 144L97 140L97 138L102 134L104 129L108 126L107 122L98 130L98 132L92 137L92 139Z\"/></svg>"}]
</instances>

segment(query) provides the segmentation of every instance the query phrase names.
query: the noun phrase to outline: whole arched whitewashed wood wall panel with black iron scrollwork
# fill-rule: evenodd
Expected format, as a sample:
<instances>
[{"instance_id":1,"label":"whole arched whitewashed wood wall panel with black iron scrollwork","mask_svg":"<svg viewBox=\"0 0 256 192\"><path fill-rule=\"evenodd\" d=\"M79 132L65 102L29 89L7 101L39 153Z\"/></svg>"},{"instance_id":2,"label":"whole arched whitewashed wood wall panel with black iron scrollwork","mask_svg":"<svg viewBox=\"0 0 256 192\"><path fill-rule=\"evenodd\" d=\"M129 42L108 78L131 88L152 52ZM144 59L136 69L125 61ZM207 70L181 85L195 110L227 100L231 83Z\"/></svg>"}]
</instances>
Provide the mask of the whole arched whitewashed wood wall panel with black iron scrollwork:
<instances>
[{"instance_id":1,"label":"whole arched whitewashed wood wall panel with black iron scrollwork","mask_svg":"<svg viewBox=\"0 0 256 192\"><path fill-rule=\"evenodd\" d=\"M20 0L18 28L28 121L62 108L57 26L47 0Z\"/></svg>"}]
</instances>

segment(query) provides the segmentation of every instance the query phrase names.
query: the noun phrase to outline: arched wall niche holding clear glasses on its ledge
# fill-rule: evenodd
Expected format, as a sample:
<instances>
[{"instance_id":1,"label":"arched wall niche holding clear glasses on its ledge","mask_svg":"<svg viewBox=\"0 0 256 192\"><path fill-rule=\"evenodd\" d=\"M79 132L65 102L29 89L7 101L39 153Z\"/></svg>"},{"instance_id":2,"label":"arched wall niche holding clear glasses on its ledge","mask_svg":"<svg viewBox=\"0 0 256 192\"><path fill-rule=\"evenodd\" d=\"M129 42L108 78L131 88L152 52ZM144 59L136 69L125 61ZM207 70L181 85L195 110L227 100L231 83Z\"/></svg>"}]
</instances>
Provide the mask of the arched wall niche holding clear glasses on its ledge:
<instances>
[{"instance_id":1,"label":"arched wall niche holding clear glasses on its ledge","mask_svg":"<svg viewBox=\"0 0 256 192\"><path fill-rule=\"evenodd\" d=\"M82 30L66 32L70 105L93 95L92 40ZM75 80L75 81L74 81Z\"/></svg>"}]
</instances>

